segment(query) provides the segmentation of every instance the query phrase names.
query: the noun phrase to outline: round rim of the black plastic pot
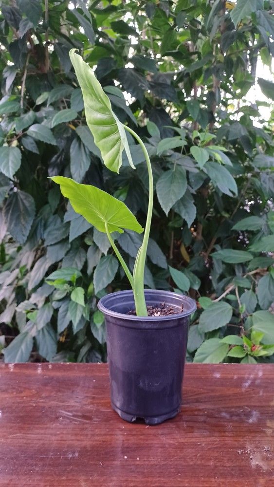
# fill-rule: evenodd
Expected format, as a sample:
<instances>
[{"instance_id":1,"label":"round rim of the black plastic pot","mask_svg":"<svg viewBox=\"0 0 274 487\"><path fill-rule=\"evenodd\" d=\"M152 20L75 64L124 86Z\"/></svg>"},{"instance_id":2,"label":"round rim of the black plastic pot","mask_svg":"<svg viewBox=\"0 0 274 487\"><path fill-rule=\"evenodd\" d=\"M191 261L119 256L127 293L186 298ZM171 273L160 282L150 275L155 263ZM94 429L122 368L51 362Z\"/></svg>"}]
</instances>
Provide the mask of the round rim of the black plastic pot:
<instances>
[{"instance_id":1,"label":"round rim of the black plastic pot","mask_svg":"<svg viewBox=\"0 0 274 487\"><path fill-rule=\"evenodd\" d=\"M122 318L122 319L130 319L130 320L133 320L133 321L148 321L148 322L155 322L156 320L157 321L164 321L164 320L174 320L174 319L180 319L180 318L184 318L186 316L189 316L191 315L192 313L194 313L194 311L196 311L197 309L197 305L196 305L196 301L193 300L192 298L189 298L189 296L186 296L184 294L179 294L179 293L174 293L172 291L164 291L164 290L160 290L160 289L145 289L145 295L146 294L159 294L159 293L164 293L164 294L169 294L169 295L172 295L173 297L176 297L178 298L178 301L188 301L188 303L190 304L190 308L187 309L187 310L184 310L182 311L182 313L176 313L174 315L165 315L165 316L135 316L135 315L128 315L128 314L125 314L125 313L118 313L117 311L112 311L111 309L107 308L104 304L104 301L106 301L108 298L112 297L112 298L119 298L119 295L123 293L125 295L125 293L127 295L132 295L132 298L133 298L133 291L131 289L127 289L127 290L123 290L123 291L115 291L114 293L109 293L107 294L106 296L103 296L103 298L101 298L98 303L97 303L97 307L100 311L102 311L102 313L104 313L105 315L109 315L109 316L112 316L112 317L116 317L116 318ZM134 300L133 300L134 302Z\"/></svg>"}]
</instances>

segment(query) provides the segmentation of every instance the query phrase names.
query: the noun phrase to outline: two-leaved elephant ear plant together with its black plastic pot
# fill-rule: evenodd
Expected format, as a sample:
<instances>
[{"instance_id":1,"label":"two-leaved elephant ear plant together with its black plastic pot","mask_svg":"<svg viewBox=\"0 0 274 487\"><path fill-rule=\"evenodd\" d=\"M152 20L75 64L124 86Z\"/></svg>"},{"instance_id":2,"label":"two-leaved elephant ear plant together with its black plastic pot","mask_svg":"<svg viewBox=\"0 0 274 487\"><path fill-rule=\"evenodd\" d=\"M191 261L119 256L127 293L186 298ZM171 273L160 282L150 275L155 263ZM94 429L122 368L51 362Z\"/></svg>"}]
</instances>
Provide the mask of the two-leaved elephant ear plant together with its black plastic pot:
<instances>
[{"instance_id":1,"label":"two-leaved elephant ear plant together with its black plastic pot","mask_svg":"<svg viewBox=\"0 0 274 487\"><path fill-rule=\"evenodd\" d=\"M147 424L157 424L175 416L180 409L188 323L196 303L169 291L144 289L153 210L150 159L143 141L118 120L92 69L75 51L70 51L70 57L82 89L87 124L104 164L119 173L125 150L130 166L135 169L126 131L144 151L149 177L145 231L128 207L105 191L63 176L52 179L60 185L74 210L107 234L132 288L104 296L98 303L106 321L112 407L127 421L141 417ZM124 229L144 231L132 273L111 237L112 232L123 233Z\"/></svg>"}]
</instances>

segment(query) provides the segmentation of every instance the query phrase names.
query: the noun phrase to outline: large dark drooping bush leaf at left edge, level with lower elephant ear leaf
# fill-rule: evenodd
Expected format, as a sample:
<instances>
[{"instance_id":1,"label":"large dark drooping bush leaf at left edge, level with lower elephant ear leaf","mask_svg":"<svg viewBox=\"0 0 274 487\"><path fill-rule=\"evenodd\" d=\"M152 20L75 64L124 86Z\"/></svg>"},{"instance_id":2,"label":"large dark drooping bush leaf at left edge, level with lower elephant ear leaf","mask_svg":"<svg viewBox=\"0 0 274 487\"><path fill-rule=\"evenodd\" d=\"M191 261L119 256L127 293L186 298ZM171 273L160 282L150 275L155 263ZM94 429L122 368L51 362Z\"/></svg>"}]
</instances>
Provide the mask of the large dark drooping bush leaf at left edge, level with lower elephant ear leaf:
<instances>
[{"instance_id":1,"label":"large dark drooping bush leaf at left edge, level with lower elephant ear leaf","mask_svg":"<svg viewBox=\"0 0 274 487\"><path fill-rule=\"evenodd\" d=\"M33 197L19 189L14 191L5 202L4 217L7 231L19 244L24 244L35 217Z\"/></svg>"}]
</instances>

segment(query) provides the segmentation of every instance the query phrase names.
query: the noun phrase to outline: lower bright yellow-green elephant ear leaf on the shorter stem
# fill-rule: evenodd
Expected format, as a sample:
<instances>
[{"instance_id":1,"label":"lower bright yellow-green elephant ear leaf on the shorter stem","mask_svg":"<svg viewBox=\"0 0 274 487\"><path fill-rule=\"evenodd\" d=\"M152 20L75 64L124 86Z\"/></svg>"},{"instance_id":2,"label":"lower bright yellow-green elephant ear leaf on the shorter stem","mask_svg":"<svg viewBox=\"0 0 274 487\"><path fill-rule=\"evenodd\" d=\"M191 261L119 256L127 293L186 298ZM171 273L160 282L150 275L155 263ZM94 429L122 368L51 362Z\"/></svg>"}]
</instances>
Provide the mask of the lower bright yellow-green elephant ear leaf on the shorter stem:
<instances>
[{"instance_id":1,"label":"lower bright yellow-green elephant ear leaf on the shorter stem","mask_svg":"<svg viewBox=\"0 0 274 487\"><path fill-rule=\"evenodd\" d=\"M80 213L100 232L106 233L105 224L108 225L110 233L115 231L123 233L123 228L137 233L143 232L143 228L125 203L102 189L75 183L72 179L63 176L55 176L52 180L60 185L62 194L70 199L76 213Z\"/></svg>"}]
</instances>

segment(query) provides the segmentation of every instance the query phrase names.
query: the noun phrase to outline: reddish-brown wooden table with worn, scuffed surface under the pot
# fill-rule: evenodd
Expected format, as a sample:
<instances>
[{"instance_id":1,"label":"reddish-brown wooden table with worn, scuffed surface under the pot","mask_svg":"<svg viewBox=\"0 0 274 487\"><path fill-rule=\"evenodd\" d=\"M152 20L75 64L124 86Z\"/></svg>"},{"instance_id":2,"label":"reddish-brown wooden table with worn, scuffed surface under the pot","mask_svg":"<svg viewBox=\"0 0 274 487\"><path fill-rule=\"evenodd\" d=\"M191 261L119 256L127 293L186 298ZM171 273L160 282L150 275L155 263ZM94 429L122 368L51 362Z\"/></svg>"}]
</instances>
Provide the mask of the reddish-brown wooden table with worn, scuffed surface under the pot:
<instances>
[{"instance_id":1,"label":"reddish-brown wooden table with worn, scuffed surface under the pot","mask_svg":"<svg viewBox=\"0 0 274 487\"><path fill-rule=\"evenodd\" d=\"M0 486L274 486L274 366L187 364L179 415L110 409L106 364L0 365Z\"/></svg>"}]
</instances>

